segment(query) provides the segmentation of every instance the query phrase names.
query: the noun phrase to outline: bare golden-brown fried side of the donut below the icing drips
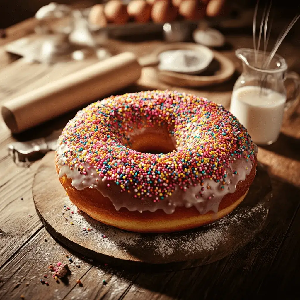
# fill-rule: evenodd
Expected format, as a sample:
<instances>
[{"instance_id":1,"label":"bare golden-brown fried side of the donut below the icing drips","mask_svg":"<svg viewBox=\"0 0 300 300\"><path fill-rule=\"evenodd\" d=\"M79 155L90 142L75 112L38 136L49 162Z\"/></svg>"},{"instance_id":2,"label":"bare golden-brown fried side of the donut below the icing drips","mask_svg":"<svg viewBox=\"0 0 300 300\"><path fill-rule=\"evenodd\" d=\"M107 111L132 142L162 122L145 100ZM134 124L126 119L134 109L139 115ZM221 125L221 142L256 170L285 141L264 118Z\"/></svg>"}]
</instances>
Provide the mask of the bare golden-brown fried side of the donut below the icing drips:
<instances>
[{"instance_id":1,"label":"bare golden-brown fried side of the donut below the icing drips","mask_svg":"<svg viewBox=\"0 0 300 300\"><path fill-rule=\"evenodd\" d=\"M56 172L59 173L57 161L56 157ZM140 213L122 207L117 211L111 200L104 197L97 189L77 190L72 186L72 179L68 179L66 175L59 178L59 180L70 201L95 220L128 231L166 233L203 226L229 214L243 201L255 175L256 161L253 162L252 170L246 176L246 179L237 184L235 192L228 193L222 198L218 212L209 211L206 214L200 214L193 206L190 208L176 207L173 214L166 214L162 209ZM122 194L116 196L122 197Z\"/></svg>"}]
</instances>

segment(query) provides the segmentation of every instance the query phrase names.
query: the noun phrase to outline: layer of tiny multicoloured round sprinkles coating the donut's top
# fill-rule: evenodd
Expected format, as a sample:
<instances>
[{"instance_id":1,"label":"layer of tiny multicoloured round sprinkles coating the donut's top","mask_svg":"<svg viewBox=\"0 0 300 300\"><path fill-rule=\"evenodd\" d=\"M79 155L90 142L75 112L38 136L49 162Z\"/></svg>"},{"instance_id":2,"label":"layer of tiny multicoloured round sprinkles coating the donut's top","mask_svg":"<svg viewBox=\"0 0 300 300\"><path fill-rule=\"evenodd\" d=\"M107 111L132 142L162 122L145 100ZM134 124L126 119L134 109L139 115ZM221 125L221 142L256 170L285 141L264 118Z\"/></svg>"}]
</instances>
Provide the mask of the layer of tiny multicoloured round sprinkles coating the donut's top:
<instances>
[{"instance_id":1,"label":"layer of tiny multicoloured round sprinkles coating the donut's top","mask_svg":"<svg viewBox=\"0 0 300 300\"><path fill-rule=\"evenodd\" d=\"M132 150L128 133L144 126L166 126L177 150ZM250 136L231 113L204 98L168 90L111 96L90 104L67 123L58 140L62 144L67 144L63 157L70 169L82 176L86 168L95 169L107 188L114 182L121 192L154 202L171 196L177 185L185 190L203 185L206 178L220 182L223 189L232 160L254 159Z\"/></svg>"}]
</instances>

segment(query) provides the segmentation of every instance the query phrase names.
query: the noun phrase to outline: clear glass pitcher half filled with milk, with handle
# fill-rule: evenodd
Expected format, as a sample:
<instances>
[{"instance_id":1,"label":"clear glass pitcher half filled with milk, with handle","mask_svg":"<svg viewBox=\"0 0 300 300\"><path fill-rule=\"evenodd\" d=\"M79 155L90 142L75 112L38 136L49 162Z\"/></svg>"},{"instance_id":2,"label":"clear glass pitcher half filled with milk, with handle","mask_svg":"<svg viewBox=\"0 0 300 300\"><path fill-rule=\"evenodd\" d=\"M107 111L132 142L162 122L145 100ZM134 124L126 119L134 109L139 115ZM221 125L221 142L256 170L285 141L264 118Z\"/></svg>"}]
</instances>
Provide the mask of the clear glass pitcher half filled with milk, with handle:
<instances>
[{"instance_id":1,"label":"clear glass pitcher half filled with milk, with handle","mask_svg":"<svg viewBox=\"0 0 300 300\"><path fill-rule=\"evenodd\" d=\"M243 62L243 73L235 82L230 112L247 128L254 143L270 145L279 136L285 109L297 101L300 77L286 73L286 61L279 55L270 61L269 53L253 49L238 49L235 55ZM295 83L295 98L288 102L286 79Z\"/></svg>"}]
</instances>

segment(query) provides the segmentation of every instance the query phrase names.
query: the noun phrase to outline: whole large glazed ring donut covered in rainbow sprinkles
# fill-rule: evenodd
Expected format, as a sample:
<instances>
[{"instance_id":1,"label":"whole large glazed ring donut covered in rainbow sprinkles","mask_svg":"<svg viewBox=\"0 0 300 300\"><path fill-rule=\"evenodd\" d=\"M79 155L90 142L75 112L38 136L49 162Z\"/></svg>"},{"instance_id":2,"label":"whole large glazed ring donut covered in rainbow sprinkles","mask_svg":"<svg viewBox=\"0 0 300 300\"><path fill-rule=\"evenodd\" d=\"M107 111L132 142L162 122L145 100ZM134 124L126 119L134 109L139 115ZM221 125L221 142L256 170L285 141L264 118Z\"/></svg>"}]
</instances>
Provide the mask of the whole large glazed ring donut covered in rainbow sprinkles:
<instances>
[{"instance_id":1,"label":"whole large glazed ring donut covered in rainbow sprinkles","mask_svg":"<svg viewBox=\"0 0 300 300\"><path fill-rule=\"evenodd\" d=\"M256 175L256 152L221 105L157 90L79 111L58 139L55 162L70 200L94 219L172 232L231 212Z\"/></svg>"}]
</instances>

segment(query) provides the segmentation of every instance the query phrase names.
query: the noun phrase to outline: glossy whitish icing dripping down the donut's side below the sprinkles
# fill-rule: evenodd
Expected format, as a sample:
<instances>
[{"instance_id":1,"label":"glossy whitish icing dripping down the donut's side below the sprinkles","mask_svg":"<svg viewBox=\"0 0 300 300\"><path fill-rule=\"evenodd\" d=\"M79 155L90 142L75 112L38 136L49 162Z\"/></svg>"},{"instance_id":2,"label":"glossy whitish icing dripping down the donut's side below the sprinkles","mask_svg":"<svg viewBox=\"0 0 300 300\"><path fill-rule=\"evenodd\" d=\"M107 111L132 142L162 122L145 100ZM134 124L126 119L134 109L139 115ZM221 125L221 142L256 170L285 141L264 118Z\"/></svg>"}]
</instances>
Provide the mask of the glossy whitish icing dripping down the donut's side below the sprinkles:
<instances>
[{"instance_id":1,"label":"glossy whitish icing dripping down the donut's side below the sprinkles","mask_svg":"<svg viewBox=\"0 0 300 300\"><path fill-rule=\"evenodd\" d=\"M208 211L217 213L223 196L228 193L234 193L238 182L244 181L252 169L250 160L247 161L240 158L238 161L233 161L233 163L230 164L231 170L227 169L227 174L230 177L227 182L227 188L221 190L220 186L222 184L220 182L204 179L203 187L209 185L210 189L205 188L201 190L202 186L200 183L186 189L180 189L179 186L177 186L172 196L166 198L165 201L153 202L153 199L150 198L145 197L141 200L133 198L131 194L128 193L121 194L117 185L110 185L108 188L108 181L103 178L101 179L95 174L95 171L91 169L88 170L88 168L86 168L87 175L80 174L76 168L71 170L69 166L64 165L64 157L62 154L67 150L68 148L65 144L58 145L57 147L58 167L60 169L58 177L61 178L66 175L68 179L72 179L72 186L77 190L83 190L85 188L97 189L104 197L112 201L117 211L122 207L127 208L129 211L140 212L147 210L154 212L158 209L162 209L166 214L172 214L177 206L185 206L187 208L195 206L200 214L205 214ZM255 145L255 153L256 152L257 146ZM232 174L232 170L236 170L238 174ZM199 192L201 192L203 196L199 197ZM116 195L119 194L120 197L116 197ZM198 198L196 198L196 196L198 196ZM209 197L211 198L209 199Z\"/></svg>"}]
</instances>

